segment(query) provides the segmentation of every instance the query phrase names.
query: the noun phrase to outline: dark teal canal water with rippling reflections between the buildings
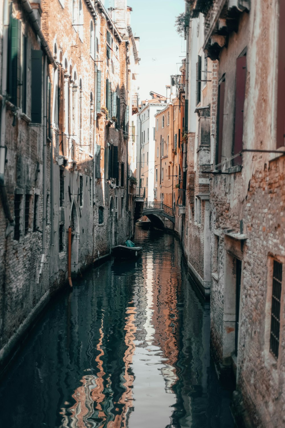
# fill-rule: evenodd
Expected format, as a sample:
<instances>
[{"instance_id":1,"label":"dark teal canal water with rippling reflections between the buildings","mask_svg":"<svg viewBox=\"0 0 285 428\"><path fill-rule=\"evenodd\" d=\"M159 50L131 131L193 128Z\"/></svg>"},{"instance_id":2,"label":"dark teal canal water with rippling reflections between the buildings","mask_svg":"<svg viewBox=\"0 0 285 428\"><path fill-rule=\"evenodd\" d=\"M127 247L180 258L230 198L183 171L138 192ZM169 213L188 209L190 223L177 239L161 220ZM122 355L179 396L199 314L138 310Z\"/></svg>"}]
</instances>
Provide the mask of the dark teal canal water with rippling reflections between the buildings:
<instances>
[{"instance_id":1,"label":"dark teal canal water with rippling reflections between the buildings","mask_svg":"<svg viewBox=\"0 0 285 428\"><path fill-rule=\"evenodd\" d=\"M177 238L135 241L137 262L91 268L50 304L1 379L1 427L234 426Z\"/></svg>"}]
</instances>

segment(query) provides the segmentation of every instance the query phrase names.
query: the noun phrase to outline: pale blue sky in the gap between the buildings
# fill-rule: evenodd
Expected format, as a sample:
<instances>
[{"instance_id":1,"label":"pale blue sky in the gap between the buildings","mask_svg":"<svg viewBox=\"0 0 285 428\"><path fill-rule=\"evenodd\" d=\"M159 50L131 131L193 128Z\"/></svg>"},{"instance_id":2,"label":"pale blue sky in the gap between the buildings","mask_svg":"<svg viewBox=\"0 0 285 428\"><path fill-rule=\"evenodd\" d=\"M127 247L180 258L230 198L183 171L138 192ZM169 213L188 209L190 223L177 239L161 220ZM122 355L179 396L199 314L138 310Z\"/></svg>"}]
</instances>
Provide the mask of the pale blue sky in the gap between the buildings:
<instances>
[{"instance_id":1,"label":"pale blue sky in the gap between the buildings","mask_svg":"<svg viewBox=\"0 0 285 428\"><path fill-rule=\"evenodd\" d=\"M113 0L105 0L105 7ZM176 32L175 17L185 10L184 0L128 0L131 27L140 37L138 86L140 100L154 91L166 95L170 75L178 74L186 42Z\"/></svg>"}]
</instances>

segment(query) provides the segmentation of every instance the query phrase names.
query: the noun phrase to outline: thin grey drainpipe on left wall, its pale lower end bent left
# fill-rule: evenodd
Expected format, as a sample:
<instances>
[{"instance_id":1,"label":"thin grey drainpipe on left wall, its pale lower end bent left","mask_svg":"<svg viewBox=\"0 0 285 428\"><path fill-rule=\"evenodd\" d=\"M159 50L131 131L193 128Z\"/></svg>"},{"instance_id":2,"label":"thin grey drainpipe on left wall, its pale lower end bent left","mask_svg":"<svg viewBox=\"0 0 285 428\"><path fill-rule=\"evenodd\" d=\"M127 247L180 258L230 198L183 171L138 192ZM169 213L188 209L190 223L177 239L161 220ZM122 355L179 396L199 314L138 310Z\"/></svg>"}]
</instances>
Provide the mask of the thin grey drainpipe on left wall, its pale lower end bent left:
<instances>
[{"instance_id":1,"label":"thin grey drainpipe on left wall, its pale lower end bent left","mask_svg":"<svg viewBox=\"0 0 285 428\"><path fill-rule=\"evenodd\" d=\"M41 264L38 273L39 283L40 276L44 266L44 256L46 250L46 226L47 226L47 55L44 55L44 142L43 142L43 240L41 251Z\"/></svg>"}]
</instances>

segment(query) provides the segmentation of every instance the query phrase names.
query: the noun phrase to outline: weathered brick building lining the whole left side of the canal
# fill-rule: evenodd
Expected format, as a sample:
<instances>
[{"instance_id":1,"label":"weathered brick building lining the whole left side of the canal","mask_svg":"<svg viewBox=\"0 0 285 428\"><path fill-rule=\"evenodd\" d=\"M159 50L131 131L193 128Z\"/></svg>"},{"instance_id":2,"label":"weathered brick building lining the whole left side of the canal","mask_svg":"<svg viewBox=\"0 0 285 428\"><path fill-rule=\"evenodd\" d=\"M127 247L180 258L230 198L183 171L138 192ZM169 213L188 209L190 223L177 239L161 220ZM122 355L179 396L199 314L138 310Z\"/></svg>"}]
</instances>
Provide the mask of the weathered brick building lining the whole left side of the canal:
<instances>
[{"instance_id":1,"label":"weathered brick building lining the whole left side of the canal","mask_svg":"<svg viewBox=\"0 0 285 428\"><path fill-rule=\"evenodd\" d=\"M2 7L1 366L67 282L69 228L72 276L133 235L140 59L126 1Z\"/></svg>"}]
</instances>

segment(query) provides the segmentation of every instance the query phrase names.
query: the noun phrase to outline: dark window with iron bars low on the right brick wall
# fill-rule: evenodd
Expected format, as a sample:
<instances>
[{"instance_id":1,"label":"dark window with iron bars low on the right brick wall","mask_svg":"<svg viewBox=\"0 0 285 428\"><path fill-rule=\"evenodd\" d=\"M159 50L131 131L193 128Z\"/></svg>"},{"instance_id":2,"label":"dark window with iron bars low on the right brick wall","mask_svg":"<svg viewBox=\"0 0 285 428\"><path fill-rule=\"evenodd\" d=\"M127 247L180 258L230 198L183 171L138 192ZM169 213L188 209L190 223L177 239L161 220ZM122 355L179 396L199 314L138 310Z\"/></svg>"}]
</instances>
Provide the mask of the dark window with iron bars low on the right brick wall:
<instances>
[{"instance_id":1,"label":"dark window with iron bars low on the right brick wall","mask_svg":"<svg viewBox=\"0 0 285 428\"><path fill-rule=\"evenodd\" d=\"M273 282L270 326L270 351L278 358L280 333L280 305L282 288L282 263L273 260Z\"/></svg>"}]
</instances>

